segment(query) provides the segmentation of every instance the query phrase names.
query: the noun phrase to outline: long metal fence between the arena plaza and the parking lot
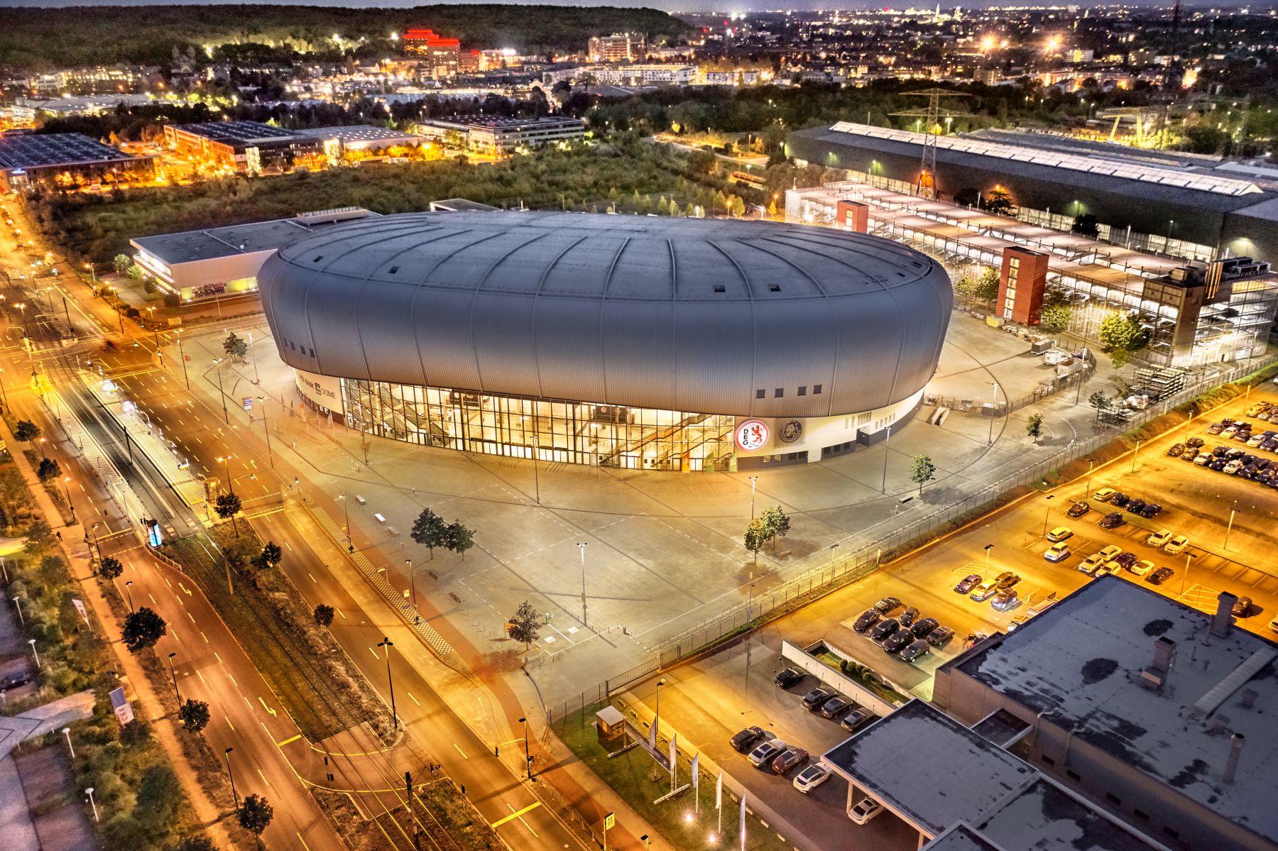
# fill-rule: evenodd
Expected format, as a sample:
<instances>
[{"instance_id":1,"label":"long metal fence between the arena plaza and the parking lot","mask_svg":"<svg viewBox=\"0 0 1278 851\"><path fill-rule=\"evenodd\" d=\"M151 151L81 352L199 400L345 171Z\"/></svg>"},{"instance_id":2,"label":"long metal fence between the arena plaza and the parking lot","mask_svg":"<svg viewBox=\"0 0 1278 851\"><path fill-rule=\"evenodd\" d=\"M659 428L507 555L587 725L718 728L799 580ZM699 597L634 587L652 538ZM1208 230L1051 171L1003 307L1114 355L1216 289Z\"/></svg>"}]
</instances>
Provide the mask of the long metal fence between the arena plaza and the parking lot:
<instances>
[{"instance_id":1,"label":"long metal fence between the arena plaza and the parking lot","mask_svg":"<svg viewBox=\"0 0 1278 851\"><path fill-rule=\"evenodd\" d=\"M1261 363L1249 364L1246 367L1235 367L1227 372L1206 371L1194 385L1187 386L1174 396L1151 404L1145 410L1136 413L1130 420L1123 423L1123 428L1125 431L1135 429L1153 418L1166 414L1177 405L1189 401L1206 388L1228 383L1275 362L1278 362L1278 356L1269 356ZM757 618L767 618L769 615L778 612L778 610L787 610L797 606L799 603L810 602L812 599L822 597L851 581L861 579L879 567L883 553L891 553L898 548L906 547L907 544L925 539L952 520L987 506L989 502L1015 487L1042 480L1052 470L1056 470L1061 465L1072 461L1076 457L1093 452L1112 441L1116 433L1113 431L1105 431L1084 441L1071 443L1070 446L1047 455L1045 457L1035 461L1033 465L1013 473L1012 475L982 487L964 500L937 509L930 514L906 523L895 532L889 532L879 538L863 543L850 556L832 558L826 564L794 576L792 579L789 579L776 588L771 588L757 597L754 594L749 594L744 603L737 603L736 606L732 606L731 608L712 616L708 620L705 620L705 613L700 611L685 613L684 618L697 620L700 622L663 640L652 649L645 661L626 671L621 671L612 677L608 677L592 691L608 696L617 689L622 689L631 682L659 671L661 668L695 656L714 641L731 636L736 632L745 631L749 629L749 624ZM583 693L580 699L581 704L587 703L587 694L589 693ZM567 708L567 704L565 704L564 710L565 713L571 712L571 709Z\"/></svg>"}]
</instances>

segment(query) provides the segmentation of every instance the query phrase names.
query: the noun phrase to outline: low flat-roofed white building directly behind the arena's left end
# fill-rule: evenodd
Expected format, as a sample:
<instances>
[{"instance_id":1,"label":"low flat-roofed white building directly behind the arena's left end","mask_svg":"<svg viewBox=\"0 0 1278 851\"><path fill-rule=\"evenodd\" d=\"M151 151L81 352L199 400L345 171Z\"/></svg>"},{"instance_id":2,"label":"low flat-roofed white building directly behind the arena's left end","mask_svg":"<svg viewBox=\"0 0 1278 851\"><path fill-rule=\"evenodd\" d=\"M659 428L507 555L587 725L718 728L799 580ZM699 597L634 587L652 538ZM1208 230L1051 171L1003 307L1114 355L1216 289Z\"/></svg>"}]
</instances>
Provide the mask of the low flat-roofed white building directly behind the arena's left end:
<instances>
[{"instance_id":1,"label":"low flat-roofed white building directly behind the arena's left end","mask_svg":"<svg viewBox=\"0 0 1278 851\"><path fill-rule=\"evenodd\" d=\"M321 210L293 218L138 236L129 244L137 252L134 262L162 290L190 304L256 293L258 270L280 245L340 221L376 215L362 207Z\"/></svg>"}]
</instances>

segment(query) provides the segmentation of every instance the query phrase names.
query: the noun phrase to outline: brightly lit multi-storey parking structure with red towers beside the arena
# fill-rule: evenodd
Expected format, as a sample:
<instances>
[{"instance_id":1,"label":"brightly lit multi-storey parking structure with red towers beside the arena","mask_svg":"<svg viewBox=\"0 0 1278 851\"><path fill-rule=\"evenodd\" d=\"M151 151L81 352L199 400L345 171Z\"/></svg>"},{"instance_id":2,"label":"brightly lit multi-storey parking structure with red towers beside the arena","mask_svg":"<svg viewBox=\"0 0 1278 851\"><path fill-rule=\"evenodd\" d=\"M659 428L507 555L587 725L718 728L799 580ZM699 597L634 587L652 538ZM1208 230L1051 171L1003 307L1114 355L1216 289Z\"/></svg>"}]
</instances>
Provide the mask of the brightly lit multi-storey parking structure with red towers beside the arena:
<instances>
[{"instance_id":1,"label":"brightly lit multi-storey parking structure with red towers beside the arena","mask_svg":"<svg viewBox=\"0 0 1278 851\"><path fill-rule=\"evenodd\" d=\"M955 268L978 263L998 268L1005 286L996 316L1030 331L1039 323L1044 299L1067 304L1063 331L1093 344L1107 317L1130 313L1149 335L1136 356L1159 367L1251 358L1269 342L1278 277L1268 263L1159 257L928 201L883 183L847 180L787 190L786 221L897 239Z\"/></svg>"}]
</instances>

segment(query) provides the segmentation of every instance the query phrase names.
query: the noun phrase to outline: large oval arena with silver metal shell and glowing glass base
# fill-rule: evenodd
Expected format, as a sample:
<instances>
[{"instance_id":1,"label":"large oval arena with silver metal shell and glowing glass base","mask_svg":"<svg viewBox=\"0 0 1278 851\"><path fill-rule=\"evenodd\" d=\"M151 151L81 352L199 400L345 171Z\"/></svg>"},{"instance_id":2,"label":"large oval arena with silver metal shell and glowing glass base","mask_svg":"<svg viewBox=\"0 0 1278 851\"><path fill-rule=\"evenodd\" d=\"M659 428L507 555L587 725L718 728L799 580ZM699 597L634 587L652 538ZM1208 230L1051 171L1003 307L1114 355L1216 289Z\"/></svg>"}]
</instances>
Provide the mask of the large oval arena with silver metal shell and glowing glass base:
<instances>
[{"instance_id":1,"label":"large oval arena with silver metal shell and glowing glass base","mask_svg":"<svg viewBox=\"0 0 1278 851\"><path fill-rule=\"evenodd\" d=\"M932 378L952 286L829 229L566 212L408 213L267 258L307 404L410 443L705 470L882 440Z\"/></svg>"}]
</instances>

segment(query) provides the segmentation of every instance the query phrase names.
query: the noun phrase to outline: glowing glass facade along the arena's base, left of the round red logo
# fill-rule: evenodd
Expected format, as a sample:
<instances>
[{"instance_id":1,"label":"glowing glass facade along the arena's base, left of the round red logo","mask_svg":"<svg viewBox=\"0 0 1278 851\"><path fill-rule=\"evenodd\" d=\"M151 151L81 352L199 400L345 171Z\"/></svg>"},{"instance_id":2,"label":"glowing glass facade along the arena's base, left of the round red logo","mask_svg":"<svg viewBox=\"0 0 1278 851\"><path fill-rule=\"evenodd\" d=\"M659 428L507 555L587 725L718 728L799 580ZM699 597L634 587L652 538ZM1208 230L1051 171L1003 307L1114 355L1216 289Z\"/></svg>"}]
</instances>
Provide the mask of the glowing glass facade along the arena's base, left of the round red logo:
<instances>
[{"instance_id":1,"label":"glowing glass facade along the arena's base, left of the round red logo","mask_svg":"<svg viewBox=\"0 0 1278 851\"><path fill-rule=\"evenodd\" d=\"M346 425L486 455L640 470L727 469L734 418L341 379Z\"/></svg>"}]
</instances>

